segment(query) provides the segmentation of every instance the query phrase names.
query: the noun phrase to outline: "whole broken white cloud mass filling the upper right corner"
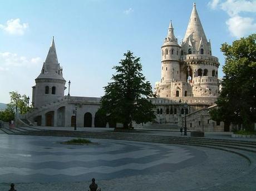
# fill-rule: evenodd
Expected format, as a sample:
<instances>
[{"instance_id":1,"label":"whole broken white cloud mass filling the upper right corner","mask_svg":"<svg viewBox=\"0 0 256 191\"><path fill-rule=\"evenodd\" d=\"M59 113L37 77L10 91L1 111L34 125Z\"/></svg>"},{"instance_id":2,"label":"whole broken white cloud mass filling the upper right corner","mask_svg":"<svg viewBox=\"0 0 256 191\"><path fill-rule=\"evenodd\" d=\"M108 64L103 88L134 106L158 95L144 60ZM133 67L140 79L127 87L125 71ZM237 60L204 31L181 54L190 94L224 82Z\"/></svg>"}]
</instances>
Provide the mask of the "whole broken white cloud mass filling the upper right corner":
<instances>
[{"instance_id":1,"label":"whole broken white cloud mass filling the upper right corner","mask_svg":"<svg viewBox=\"0 0 256 191\"><path fill-rule=\"evenodd\" d=\"M212 9L220 8L228 13L230 18L226 24L232 36L240 38L256 31L253 18L240 16L240 13L256 13L255 0L212 0L208 5Z\"/></svg>"}]
</instances>

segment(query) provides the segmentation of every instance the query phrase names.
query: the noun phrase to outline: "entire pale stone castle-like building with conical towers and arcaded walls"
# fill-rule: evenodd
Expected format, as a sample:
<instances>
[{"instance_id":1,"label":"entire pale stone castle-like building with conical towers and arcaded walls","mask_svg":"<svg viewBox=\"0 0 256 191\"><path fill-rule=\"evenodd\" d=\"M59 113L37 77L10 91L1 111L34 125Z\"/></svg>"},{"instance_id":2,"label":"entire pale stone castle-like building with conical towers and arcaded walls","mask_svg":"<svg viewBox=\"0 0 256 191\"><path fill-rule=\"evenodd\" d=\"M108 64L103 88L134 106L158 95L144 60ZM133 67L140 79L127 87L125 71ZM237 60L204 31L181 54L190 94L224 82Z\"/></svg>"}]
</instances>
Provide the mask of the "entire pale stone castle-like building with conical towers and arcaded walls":
<instances>
[{"instance_id":1,"label":"entire pale stone castle-like building with conical towers and arcaded walls","mask_svg":"<svg viewBox=\"0 0 256 191\"><path fill-rule=\"evenodd\" d=\"M157 98L149 100L156 106L156 119L146 124L134 124L134 127L177 129L184 127L186 117L186 127L190 130L230 131L223 122L215 122L209 116L209 110L216 107L215 101L221 91L220 64L211 52L211 42L206 38L195 4L181 44L178 44L170 22L160 54L161 78L155 83ZM19 116L19 123L53 128L119 125L99 122L100 98L64 95L69 87L63 78L64 72L65 68L58 63L52 39L41 73L32 87L33 109Z\"/></svg>"}]
</instances>

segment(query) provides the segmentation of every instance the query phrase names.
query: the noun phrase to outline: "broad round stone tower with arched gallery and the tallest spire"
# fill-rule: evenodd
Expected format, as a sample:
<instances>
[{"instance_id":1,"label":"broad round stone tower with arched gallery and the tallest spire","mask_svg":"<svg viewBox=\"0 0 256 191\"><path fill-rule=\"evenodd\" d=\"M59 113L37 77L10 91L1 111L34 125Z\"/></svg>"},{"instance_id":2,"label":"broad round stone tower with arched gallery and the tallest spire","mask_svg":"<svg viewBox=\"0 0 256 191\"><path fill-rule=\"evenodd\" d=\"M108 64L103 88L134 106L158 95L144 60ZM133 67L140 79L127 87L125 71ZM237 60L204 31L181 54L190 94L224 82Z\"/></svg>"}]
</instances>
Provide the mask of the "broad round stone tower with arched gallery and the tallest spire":
<instances>
[{"instance_id":1,"label":"broad round stone tower with arched gallery and the tallest spire","mask_svg":"<svg viewBox=\"0 0 256 191\"><path fill-rule=\"evenodd\" d=\"M188 28L181 42L184 79L189 79L193 96L218 96L218 58L212 56L211 43L206 39L195 3Z\"/></svg>"}]
</instances>

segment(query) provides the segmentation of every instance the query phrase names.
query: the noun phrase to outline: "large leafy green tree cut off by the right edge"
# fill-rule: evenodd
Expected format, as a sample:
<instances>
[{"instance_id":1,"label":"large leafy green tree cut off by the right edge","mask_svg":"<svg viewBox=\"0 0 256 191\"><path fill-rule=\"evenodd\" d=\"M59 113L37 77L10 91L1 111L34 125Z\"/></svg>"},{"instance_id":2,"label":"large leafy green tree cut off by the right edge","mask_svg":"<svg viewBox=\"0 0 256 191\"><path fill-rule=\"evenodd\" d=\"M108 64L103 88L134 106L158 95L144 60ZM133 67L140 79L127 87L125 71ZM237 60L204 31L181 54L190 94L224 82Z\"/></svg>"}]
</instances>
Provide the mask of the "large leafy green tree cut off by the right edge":
<instances>
[{"instance_id":1,"label":"large leafy green tree cut off by the right edge","mask_svg":"<svg viewBox=\"0 0 256 191\"><path fill-rule=\"evenodd\" d=\"M226 123L243 124L248 130L256 122L256 34L222 44L225 56L223 89L211 118Z\"/></svg>"}]
</instances>

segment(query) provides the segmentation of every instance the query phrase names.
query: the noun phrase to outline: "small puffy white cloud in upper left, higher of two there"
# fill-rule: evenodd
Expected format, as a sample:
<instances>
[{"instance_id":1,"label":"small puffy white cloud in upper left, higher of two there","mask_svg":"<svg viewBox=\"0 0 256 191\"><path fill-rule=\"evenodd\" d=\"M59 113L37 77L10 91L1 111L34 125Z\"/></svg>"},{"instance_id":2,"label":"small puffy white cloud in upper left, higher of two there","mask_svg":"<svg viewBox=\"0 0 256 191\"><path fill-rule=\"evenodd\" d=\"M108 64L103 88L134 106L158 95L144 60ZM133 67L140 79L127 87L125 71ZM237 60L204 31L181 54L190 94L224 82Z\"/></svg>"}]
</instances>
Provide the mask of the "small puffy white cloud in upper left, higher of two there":
<instances>
[{"instance_id":1,"label":"small puffy white cloud in upper left, higher of two there","mask_svg":"<svg viewBox=\"0 0 256 191\"><path fill-rule=\"evenodd\" d=\"M21 19L9 19L6 24L0 24L0 28L9 34L22 36L28 28L28 23L21 23Z\"/></svg>"}]
</instances>

